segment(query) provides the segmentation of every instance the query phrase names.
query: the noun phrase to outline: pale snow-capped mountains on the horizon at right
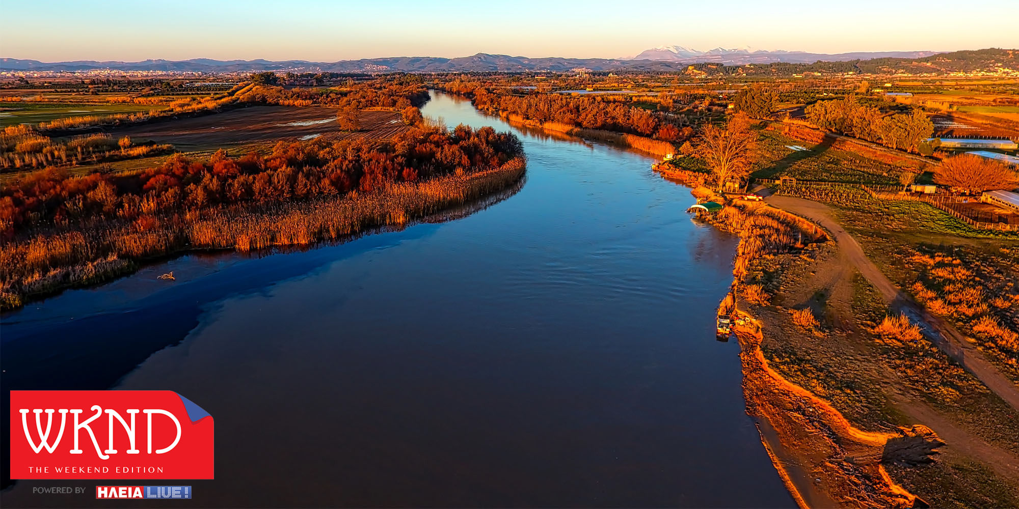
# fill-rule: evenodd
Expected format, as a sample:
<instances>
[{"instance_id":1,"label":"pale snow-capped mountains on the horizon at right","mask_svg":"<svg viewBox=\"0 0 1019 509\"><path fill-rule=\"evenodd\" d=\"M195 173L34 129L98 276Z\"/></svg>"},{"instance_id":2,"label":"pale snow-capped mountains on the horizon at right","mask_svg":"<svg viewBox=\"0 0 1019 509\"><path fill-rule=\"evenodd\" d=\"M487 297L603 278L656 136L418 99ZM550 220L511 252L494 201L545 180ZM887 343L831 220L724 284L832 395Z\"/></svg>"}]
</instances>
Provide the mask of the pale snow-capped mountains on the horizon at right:
<instances>
[{"instance_id":1,"label":"pale snow-capped mountains on the horizon at right","mask_svg":"<svg viewBox=\"0 0 1019 509\"><path fill-rule=\"evenodd\" d=\"M640 52L634 60L658 60L681 63L718 62L728 65L745 65L757 63L788 62L814 63L846 62L849 60L868 60L871 58L921 58L935 55L935 51L878 51L854 53L808 53L805 51L766 51L753 50L749 47L715 48L707 51L697 51L683 46L659 46Z\"/></svg>"}]
</instances>

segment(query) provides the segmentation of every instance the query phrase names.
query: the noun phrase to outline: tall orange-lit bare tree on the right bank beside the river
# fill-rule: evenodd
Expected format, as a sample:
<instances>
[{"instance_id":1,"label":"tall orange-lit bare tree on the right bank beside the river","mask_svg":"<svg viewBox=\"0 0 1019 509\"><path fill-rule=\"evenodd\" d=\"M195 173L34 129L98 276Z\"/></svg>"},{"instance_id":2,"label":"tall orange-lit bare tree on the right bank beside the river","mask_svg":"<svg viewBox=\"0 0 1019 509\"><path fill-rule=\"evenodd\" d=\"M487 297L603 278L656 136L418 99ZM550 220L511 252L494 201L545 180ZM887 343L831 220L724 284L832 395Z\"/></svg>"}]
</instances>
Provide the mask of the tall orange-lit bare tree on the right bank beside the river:
<instances>
[{"instance_id":1,"label":"tall orange-lit bare tree on the right bank beside the river","mask_svg":"<svg viewBox=\"0 0 1019 509\"><path fill-rule=\"evenodd\" d=\"M750 119L746 113L737 113L726 127L705 126L696 149L711 168L720 191L730 179L742 179L749 173L756 146L757 133L750 129Z\"/></svg>"}]
</instances>

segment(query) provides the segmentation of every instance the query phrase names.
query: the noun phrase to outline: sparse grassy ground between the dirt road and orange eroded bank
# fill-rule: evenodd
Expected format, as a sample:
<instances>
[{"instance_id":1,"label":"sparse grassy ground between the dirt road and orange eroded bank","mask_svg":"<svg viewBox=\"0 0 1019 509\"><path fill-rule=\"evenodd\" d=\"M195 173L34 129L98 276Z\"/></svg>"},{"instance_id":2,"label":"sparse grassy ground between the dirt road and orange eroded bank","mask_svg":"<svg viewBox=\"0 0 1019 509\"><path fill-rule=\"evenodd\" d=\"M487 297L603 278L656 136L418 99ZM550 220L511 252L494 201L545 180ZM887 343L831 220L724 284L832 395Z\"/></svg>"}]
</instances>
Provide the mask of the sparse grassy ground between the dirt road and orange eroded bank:
<instances>
[{"instance_id":1,"label":"sparse grassy ground between the dirt road and orange eroded bank","mask_svg":"<svg viewBox=\"0 0 1019 509\"><path fill-rule=\"evenodd\" d=\"M923 412L935 412L944 426L961 431L967 440L996 451L1016 451L1013 438L1019 423L1006 403L931 343L900 342L875 333L888 306L869 282L844 269L833 246L759 257L748 273L766 290L766 301L753 304L752 314L771 332L761 344L770 366L829 402L853 426L880 432L890 425L928 423ZM791 317L790 309L803 307L819 321L812 331ZM1016 480L995 471L995 460L978 451L979 446L953 440L934 463L897 465L894 478L935 507L1019 501ZM980 471L966 470L966 465Z\"/></svg>"}]
</instances>

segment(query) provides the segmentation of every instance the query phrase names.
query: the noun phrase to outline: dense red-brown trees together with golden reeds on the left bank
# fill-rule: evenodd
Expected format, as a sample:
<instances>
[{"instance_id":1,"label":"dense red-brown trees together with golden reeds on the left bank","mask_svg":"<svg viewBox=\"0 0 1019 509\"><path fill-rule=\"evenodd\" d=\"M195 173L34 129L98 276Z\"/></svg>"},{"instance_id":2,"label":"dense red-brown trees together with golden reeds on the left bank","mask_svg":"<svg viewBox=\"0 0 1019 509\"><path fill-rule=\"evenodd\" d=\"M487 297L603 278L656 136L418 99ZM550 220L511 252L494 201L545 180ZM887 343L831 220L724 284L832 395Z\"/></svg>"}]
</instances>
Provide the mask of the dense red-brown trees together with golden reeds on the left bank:
<instances>
[{"instance_id":1,"label":"dense red-brown trees together with golden reeds on the left bank","mask_svg":"<svg viewBox=\"0 0 1019 509\"><path fill-rule=\"evenodd\" d=\"M175 155L121 177L40 170L0 191L0 303L181 248L308 243L403 223L504 188L523 168L516 136L461 125L389 142L279 143L266 157Z\"/></svg>"}]
</instances>

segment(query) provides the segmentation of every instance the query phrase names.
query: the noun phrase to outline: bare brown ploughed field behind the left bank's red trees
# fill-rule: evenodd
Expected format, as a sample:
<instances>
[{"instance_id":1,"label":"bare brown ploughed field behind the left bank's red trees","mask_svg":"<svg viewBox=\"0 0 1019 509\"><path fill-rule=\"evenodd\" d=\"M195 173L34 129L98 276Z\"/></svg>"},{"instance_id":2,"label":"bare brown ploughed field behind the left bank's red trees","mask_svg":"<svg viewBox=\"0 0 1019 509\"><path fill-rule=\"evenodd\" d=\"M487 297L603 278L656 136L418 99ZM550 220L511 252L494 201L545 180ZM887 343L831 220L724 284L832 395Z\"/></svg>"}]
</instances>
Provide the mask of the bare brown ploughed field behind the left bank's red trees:
<instances>
[{"instance_id":1,"label":"bare brown ploughed field behind the left bank's red trees","mask_svg":"<svg viewBox=\"0 0 1019 509\"><path fill-rule=\"evenodd\" d=\"M140 124L110 129L114 136L129 135L136 142L153 140L178 146L219 146L298 140L389 138L409 127L392 111L366 110L358 114L362 130L345 132L336 125L336 109L324 106L251 106L223 113Z\"/></svg>"}]
</instances>

